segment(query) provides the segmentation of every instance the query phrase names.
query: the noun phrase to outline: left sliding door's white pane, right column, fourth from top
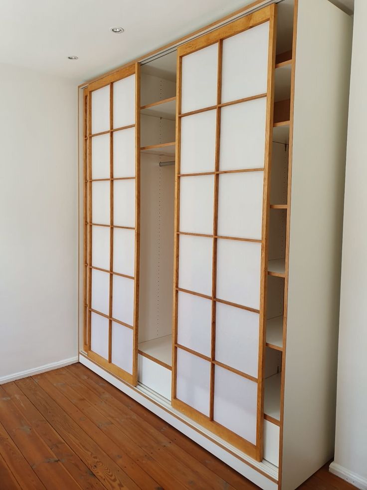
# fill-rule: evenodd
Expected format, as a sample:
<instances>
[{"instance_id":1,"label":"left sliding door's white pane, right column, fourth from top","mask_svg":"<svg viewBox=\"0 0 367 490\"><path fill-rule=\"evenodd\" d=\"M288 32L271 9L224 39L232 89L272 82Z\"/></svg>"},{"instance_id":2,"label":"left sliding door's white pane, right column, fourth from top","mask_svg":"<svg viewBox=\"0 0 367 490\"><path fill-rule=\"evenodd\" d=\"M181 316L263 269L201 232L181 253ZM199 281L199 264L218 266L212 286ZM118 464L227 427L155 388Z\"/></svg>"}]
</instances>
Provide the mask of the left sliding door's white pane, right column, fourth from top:
<instances>
[{"instance_id":1,"label":"left sliding door's white pane, right column, fourth from top","mask_svg":"<svg viewBox=\"0 0 367 490\"><path fill-rule=\"evenodd\" d=\"M114 228L113 231L113 271L134 275L135 271L135 231Z\"/></svg>"}]
</instances>

